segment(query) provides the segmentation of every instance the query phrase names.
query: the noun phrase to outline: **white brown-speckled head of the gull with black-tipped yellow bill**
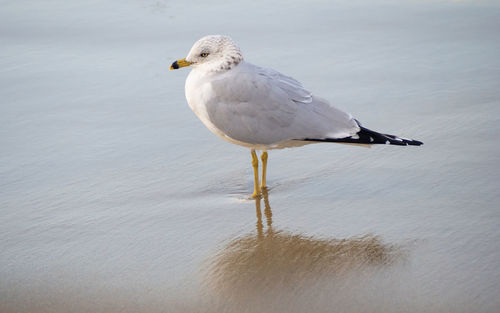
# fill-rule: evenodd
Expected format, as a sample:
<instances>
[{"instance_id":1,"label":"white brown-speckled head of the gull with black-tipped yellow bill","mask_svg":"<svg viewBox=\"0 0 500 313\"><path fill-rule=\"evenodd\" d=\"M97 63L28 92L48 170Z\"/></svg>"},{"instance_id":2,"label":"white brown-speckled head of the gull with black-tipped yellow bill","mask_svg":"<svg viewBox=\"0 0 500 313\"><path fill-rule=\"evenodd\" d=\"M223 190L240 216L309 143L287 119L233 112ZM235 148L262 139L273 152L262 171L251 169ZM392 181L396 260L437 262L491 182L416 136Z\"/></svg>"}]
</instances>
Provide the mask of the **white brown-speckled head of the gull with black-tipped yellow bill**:
<instances>
[{"instance_id":1,"label":"white brown-speckled head of the gull with black-tipped yellow bill","mask_svg":"<svg viewBox=\"0 0 500 313\"><path fill-rule=\"evenodd\" d=\"M172 63L170 69L192 66L208 72L220 72L233 68L241 61L241 50L230 37L210 35L198 40L188 56Z\"/></svg>"}]
</instances>

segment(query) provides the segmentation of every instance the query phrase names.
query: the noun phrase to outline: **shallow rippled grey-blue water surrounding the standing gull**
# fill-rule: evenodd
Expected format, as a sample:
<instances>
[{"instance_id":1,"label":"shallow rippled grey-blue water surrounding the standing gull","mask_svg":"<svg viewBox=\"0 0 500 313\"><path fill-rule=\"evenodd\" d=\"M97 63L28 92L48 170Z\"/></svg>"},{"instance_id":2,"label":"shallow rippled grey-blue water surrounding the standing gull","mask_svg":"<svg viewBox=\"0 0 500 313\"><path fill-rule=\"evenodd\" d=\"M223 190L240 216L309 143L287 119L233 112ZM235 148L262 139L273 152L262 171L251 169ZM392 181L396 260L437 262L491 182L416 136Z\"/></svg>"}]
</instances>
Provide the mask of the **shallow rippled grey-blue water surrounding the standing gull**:
<instances>
[{"instance_id":1,"label":"shallow rippled grey-blue water surrounding the standing gull","mask_svg":"<svg viewBox=\"0 0 500 313\"><path fill-rule=\"evenodd\" d=\"M500 5L2 1L1 312L498 312ZM250 154L168 71L229 34L422 147Z\"/></svg>"}]
</instances>

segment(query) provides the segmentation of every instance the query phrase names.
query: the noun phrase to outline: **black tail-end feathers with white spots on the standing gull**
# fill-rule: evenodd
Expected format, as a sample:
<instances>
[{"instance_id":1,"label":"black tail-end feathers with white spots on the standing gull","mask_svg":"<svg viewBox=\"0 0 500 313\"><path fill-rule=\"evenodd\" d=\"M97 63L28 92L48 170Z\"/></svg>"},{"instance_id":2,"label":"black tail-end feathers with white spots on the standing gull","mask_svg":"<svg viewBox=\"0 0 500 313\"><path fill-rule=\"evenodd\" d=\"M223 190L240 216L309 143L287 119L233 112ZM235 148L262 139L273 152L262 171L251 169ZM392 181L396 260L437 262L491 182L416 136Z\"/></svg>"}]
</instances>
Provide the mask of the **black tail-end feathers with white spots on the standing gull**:
<instances>
[{"instance_id":1,"label":"black tail-end feathers with white spots on the standing gull","mask_svg":"<svg viewBox=\"0 0 500 313\"><path fill-rule=\"evenodd\" d=\"M358 122L358 121L356 121ZM397 146L420 146L423 142L400 138L394 135L382 134L376 131L365 128L359 124L360 131L356 135L345 138L322 138L322 139L311 139L306 138L304 141L316 141L316 142L338 142L338 143L350 143L350 144L361 144L361 145L373 145L373 144L387 144L387 145L397 145Z\"/></svg>"}]
</instances>

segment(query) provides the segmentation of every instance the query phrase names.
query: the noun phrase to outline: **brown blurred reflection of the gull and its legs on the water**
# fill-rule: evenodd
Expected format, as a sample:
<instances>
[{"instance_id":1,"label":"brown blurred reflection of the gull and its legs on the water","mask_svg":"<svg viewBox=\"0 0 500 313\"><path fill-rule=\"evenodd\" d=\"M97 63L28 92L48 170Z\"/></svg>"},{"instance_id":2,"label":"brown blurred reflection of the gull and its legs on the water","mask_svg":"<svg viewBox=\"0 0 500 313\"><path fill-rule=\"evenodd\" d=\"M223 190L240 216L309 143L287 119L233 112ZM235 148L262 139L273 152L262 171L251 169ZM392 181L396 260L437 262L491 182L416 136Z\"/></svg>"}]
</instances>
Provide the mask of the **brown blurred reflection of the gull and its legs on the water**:
<instances>
[{"instance_id":1,"label":"brown blurred reflection of the gull and its legs on the water","mask_svg":"<svg viewBox=\"0 0 500 313\"><path fill-rule=\"evenodd\" d=\"M207 272L211 290L248 296L290 289L387 266L400 255L396 246L373 235L320 239L275 230L267 191L262 197L266 227L261 199L256 199L257 232L234 239L211 260Z\"/></svg>"}]
</instances>

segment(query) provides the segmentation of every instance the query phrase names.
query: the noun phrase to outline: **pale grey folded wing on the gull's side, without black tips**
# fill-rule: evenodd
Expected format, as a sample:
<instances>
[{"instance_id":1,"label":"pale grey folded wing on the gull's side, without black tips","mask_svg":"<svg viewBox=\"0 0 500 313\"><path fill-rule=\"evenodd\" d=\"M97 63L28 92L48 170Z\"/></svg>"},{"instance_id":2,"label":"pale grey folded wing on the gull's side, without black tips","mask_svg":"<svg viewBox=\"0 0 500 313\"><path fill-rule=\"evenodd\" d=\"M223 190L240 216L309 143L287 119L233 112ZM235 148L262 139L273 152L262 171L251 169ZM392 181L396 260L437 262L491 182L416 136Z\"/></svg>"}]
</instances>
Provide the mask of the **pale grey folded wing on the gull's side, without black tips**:
<instances>
[{"instance_id":1,"label":"pale grey folded wing on the gull's side, without black tips","mask_svg":"<svg viewBox=\"0 0 500 313\"><path fill-rule=\"evenodd\" d=\"M271 145L293 139L344 138L359 131L350 114L271 69L240 64L211 85L215 97L206 106L210 121L239 141Z\"/></svg>"}]
</instances>

